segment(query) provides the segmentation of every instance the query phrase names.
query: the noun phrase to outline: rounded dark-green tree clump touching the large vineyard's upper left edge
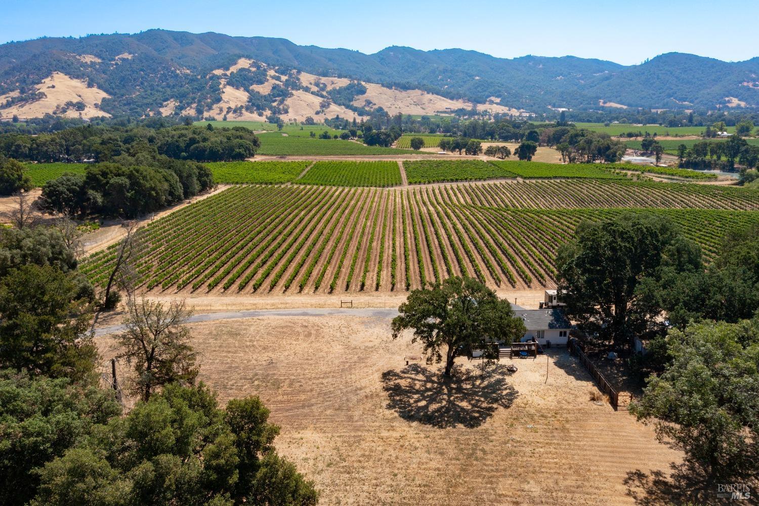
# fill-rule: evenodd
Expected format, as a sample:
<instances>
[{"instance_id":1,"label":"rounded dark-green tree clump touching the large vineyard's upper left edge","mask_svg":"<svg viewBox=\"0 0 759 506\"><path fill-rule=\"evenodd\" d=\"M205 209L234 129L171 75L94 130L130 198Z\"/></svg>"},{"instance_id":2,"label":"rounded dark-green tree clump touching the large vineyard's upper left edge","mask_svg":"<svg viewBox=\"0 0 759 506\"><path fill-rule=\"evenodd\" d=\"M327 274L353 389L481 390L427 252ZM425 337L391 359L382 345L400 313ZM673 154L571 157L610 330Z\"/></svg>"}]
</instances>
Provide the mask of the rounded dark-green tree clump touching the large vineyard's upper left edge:
<instances>
[{"instance_id":1,"label":"rounded dark-green tree clump touching the large vineyard's upper left edge","mask_svg":"<svg viewBox=\"0 0 759 506\"><path fill-rule=\"evenodd\" d=\"M43 187L42 207L67 216L99 214L140 217L213 188L209 169L196 162L164 156L121 155L65 173Z\"/></svg>"}]
</instances>

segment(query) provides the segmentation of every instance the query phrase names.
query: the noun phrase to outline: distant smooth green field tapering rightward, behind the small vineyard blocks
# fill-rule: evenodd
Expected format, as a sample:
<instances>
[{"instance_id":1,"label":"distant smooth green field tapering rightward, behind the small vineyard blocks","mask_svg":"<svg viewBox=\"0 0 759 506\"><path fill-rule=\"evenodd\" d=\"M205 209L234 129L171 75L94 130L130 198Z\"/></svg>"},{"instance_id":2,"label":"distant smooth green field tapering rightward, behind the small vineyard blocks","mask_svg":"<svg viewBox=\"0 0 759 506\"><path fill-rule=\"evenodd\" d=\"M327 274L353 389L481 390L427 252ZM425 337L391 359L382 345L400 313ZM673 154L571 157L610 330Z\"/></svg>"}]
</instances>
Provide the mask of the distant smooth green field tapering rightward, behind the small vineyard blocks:
<instances>
[{"instance_id":1,"label":"distant smooth green field tapering rightward, behind the small vineyard blocks","mask_svg":"<svg viewBox=\"0 0 759 506\"><path fill-rule=\"evenodd\" d=\"M263 155L389 155L410 154L411 150L392 147L365 146L354 141L314 139L295 135L283 136L279 132L260 134L261 147L257 151Z\"/></svg>"}]
</instances>

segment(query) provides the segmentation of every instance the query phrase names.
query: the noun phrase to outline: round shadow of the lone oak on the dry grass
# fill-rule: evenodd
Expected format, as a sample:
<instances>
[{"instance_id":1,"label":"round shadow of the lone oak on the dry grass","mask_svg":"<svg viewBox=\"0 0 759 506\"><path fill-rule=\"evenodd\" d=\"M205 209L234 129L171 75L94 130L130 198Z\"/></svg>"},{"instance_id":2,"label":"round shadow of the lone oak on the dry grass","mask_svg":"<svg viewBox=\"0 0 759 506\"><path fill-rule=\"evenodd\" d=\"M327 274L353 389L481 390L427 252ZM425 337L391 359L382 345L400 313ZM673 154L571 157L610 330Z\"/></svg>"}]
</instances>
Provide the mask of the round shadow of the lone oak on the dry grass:
<instances>
[{"instance_id":1,"label":"round shadow of the lone oak on the dry grass","mask_svg":"<svg viewBox=\"0 0 759 506\"><path fill-rule=\"evenodd\" d=\"M451 378L442 369L411 364L400 371L383 372L387 407L402 419L432 425L437 429L474 429L487 421L499 407L508 408L518 392L506 381L505 365L483 369L455 366Z\"/></svg>"}]
</instances>

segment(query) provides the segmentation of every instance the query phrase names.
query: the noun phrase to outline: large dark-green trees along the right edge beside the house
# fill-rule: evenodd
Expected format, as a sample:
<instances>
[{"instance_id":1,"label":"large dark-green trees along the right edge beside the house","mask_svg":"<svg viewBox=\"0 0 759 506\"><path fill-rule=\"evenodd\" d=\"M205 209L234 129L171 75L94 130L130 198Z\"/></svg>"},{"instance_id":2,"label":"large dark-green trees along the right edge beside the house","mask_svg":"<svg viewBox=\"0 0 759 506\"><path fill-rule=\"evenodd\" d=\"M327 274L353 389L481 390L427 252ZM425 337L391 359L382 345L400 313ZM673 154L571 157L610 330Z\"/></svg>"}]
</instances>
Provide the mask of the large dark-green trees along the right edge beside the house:
<instances>
[{"instance_id":1,"label":"large dark-green trees along the right edge beside the house","mask_svg":"<svg viewBox=\"0 0 759 506\"><path fill-rule=\"evenodd\" d=\"M664 217L581 223L556 259L568 316L587 343L633 349L650 374L633 413L657 423L711 479L757 476L759 226L732 231L705 264Z\"/></svg>"}]
</instances>

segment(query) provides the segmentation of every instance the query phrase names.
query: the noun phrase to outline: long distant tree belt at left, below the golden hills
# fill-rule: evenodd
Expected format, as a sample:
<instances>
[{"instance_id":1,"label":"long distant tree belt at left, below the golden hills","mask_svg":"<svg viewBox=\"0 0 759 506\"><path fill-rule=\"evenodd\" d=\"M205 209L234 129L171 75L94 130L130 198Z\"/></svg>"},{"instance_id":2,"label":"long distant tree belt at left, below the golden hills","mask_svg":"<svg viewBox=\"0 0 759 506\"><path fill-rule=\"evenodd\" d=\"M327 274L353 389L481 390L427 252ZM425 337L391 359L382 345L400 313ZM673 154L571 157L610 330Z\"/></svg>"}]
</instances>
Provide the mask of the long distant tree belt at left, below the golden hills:
<instances>
[{"instance_id":1,"label":"long distant tree belt at left, below the golden hills","mask_svg":"<svg viewBox=\"0 0 759 506\"><path fill-rule=\"evenodd\" d=\"M191 122L190 122L191 123ZM199 162L244 160L254 156L260 141L247 128L206 128L177 125L168 128L81 126L36 136L0 134L0 155L33 162L107 162L124 154L165 155Z\"/></svg>"}]
</instances>

